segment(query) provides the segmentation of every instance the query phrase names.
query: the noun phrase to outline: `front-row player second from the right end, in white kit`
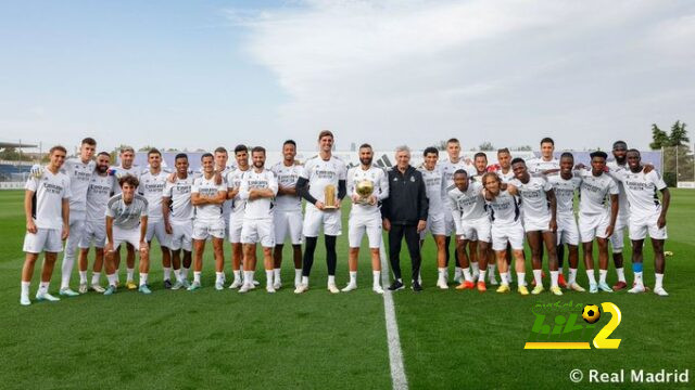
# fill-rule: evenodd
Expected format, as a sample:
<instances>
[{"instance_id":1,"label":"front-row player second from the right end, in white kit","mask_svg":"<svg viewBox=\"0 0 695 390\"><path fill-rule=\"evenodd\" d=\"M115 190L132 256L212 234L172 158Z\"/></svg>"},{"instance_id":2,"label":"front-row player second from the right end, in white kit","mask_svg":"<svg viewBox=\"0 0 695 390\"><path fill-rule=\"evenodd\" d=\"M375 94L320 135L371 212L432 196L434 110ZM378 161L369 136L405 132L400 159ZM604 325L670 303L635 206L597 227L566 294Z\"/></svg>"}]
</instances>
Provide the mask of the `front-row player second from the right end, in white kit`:
<instances>
[{"instance_id":1,"label":"front-row player second from the right end, in white kit","mask_svg":"<svg viewBox=\"0 0 695 390\"><path fill-rule=\"evenodd\" d=\"M598 289L612 292L606 284L608 273L608 237L612 234L618 217L618 184L608 174L606 168L606 152L593 152L591 157L591 170L581 169L582 179L579 203L579 235L584 248L584 263L586 276L589 276L589 292L598 292ZM606 196L610 197L610 211L604 206ZM594 274L593 243L598 244L599 282L596 284Z\"/></svg>"}]
</instances>

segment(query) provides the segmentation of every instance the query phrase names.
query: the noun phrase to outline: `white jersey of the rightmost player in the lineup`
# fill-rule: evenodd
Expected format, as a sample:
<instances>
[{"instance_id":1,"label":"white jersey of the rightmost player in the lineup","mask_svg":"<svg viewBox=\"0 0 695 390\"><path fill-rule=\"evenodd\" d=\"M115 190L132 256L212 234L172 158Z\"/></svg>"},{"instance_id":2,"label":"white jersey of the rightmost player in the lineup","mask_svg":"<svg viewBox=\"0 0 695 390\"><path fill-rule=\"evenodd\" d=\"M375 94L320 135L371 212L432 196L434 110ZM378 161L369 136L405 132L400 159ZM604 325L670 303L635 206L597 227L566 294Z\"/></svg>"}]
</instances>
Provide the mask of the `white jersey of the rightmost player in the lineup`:
<instances>
[{"instance_id":1,"label":"white jersey of the rightmost player in the lineup","mask_svg":"<svg viewBox=\"0 0 695 390\"><path fill-rule=\"evenodd\" d=\"M666 188L666 183L659 172L653 170L644 173L643 168L637 173L623 170L614 174L624 186L628 202L630 202L630 213L635 219L646 219L661 212L658 191Z\"/></svg>"}]
</instances>

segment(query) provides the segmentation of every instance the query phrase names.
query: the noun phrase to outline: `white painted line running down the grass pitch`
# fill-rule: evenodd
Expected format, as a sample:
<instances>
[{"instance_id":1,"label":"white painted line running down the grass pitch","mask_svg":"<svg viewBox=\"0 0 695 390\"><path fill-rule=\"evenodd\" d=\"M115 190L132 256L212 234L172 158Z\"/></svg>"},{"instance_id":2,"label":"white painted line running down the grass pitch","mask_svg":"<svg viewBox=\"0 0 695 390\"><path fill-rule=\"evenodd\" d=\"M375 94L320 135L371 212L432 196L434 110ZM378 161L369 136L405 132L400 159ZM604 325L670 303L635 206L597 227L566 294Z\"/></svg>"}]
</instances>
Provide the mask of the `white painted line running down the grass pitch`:
<instances>
[{"instance_id":1,"label":"white painted line running down the grass pitch","mask_svg":"<svg viewBox=\"0 0 695 390\"><path fill-rule=\"evenodd\" d=\"M395 307L393 304L393 292L389 287L389 263L383 245L379 248L381 258L381 284L383 285L383 315L387 321L387 340L389 344L389 365L391 366L391 381L393 390L407 390L408 380L405 377L403 365L403 350L401 350L401 337L399 336L399 324L395 320Z\"/></svg>"}]
</instances>

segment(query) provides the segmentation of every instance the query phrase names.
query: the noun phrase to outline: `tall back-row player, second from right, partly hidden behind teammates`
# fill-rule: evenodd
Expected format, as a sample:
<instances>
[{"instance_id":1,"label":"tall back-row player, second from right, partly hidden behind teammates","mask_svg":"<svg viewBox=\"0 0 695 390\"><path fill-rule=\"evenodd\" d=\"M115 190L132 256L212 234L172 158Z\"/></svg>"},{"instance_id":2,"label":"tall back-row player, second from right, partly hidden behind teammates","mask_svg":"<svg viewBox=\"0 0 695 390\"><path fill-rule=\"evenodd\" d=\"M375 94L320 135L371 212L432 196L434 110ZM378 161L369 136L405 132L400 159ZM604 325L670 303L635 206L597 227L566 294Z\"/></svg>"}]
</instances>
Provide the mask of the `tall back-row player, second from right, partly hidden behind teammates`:
<instances>
[{"instance_id":1,"label":"tall back-row player, second from right, partly hidden behind teammates","mask_svg":"<svg viewBox=\"0 0 695 390\"><path fill-rule=\"evenodd\" d=\"M628 171L628 144L624 141L616 141L612 144L614 159L606 162L606 167L611 172ZM630 204L628 203L628 196L626 195L626 188L620 180L618 180L618 218L616 219L616 230L610 236L610 246L612 247L612 262L616 265L616 273L618 274L618 282L612 286L615 291L621 290L628 287L626 282L626 272L622 259L622 248L624 247L624 231L628 229L630 219Z\"/></svg>"}]
</instances>

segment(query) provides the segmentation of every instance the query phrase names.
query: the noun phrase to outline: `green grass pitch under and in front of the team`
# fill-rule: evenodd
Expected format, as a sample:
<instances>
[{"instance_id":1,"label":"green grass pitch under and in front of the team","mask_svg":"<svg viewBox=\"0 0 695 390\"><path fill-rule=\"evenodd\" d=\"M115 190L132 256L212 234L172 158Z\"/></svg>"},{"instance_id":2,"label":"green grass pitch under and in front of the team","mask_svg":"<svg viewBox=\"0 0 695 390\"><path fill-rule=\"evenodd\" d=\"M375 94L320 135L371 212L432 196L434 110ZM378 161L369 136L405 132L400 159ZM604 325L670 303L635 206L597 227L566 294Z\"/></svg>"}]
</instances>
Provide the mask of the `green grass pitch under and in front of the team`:
<instances>
[{"instance_id":1,"label":"green grass pitch under and in front of the team","mask_svg":"<svg viewBox=\"0 0 695 390\"><path fill-rule=\"evenodd\" d=\"M405 372L412 389L580 388L573 368L688 368L694 380L695 191L672 190L665 287L671 295L566 292L556 299L489 290L434 287L434 245L424 247L421 294L394 295ZM371 292L367 250L361 253L359 289L331 295L319 243L312 289L292 292L293 270L286 246L283 281L275 295L213 288L212 248L205 253L203 286L189 292L162 289L154 249L151 296L121 289L114 297L89 292L58 303L18 303L25 232L23 192L0 192L0 388L49 389L389 389L383 300ZM338 282L348 280L346 210L339 239ZM405 247L405 246L404 246ZM366 249L366 247L364 248ZM404 249L405 250L405 249ZM630 250L626 253L629 256ZM230 280L230 248L225 252ZM405 255L405 253L404 253ZM529 252L527 251L527 256ZM51 284L60 285L59 257ZM125 262L125 261L124 261ZM530 263L530 261L527 261ZM265 283L260 262L256 278ZM626 263L632 282L630 263ZM90 261L91 266L91 261ZM38 269L39 266L37 266ZM75 266L76 268L76 266ZM404 270L409 261L404 258ZM530 265L529 265L530 268ZM38 273L31 297L38 286ZM90 273L91 274L91 273ZM406 274L407 275L407 272ZM125 275L124 275L125 276ZM122 280L124 280L122 276ZM615 282L612 264L609 284ZM530 281L530 271L527 274ZM652 251L645 251L645 282L654 285ZM77 270L73 287L77 287ZM586 286L583 265L579 282ZM105 285L105 278L102 278ZM386 286L384 286L386 287ZM622 323L611 335L618 350L523 350L538 302L616 303ZM690 387L671 384L666 388ZM629 387L629 384L620 386Z\"/></svg>"}]
</instances>

